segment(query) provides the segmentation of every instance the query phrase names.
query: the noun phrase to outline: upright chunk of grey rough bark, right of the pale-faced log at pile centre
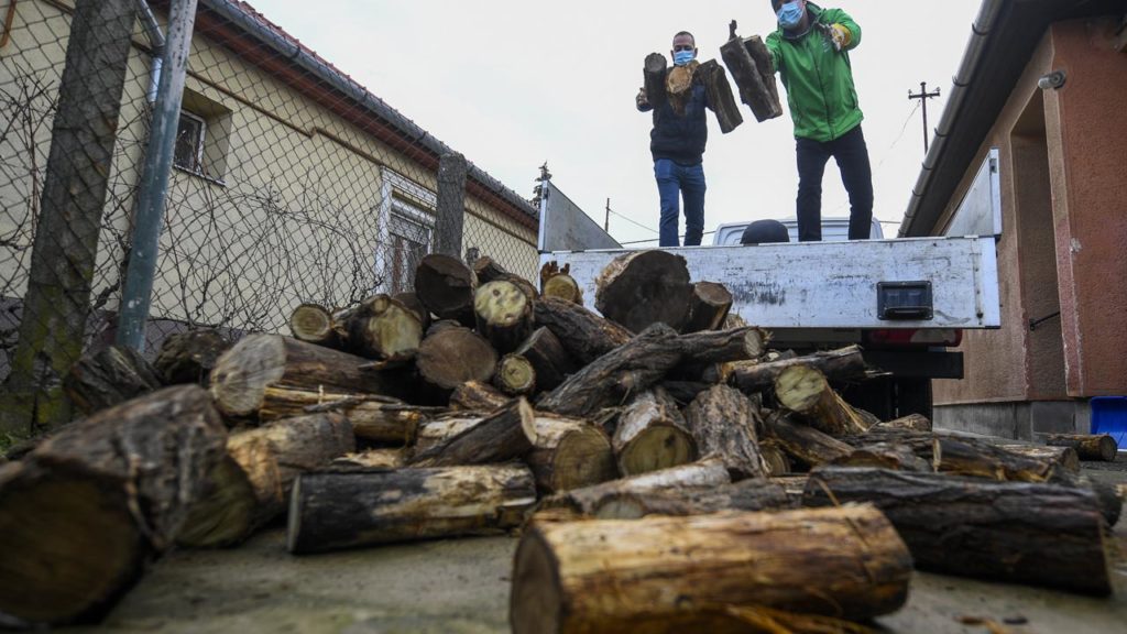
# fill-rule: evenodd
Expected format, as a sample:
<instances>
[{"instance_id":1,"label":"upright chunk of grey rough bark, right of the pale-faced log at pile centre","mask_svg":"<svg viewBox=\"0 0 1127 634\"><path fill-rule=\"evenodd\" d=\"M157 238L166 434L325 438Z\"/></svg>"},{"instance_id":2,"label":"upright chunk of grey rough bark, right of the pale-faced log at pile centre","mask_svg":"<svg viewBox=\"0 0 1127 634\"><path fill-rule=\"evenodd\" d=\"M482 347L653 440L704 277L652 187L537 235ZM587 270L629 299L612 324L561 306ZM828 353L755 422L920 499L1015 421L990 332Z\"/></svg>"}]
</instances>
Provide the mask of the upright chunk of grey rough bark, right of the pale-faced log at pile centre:
<instances>
[{"instance_id":1,"label":"upright chunk of grey rough bark, right of the pale-faced log at pile centre","mask_svg":"<svg viewBox=\"0 0 1127 634\"><path fill-rule=\"evenodd\" d=\"M716 386L685 408L685 423L702 456L719 457L734 481L766 477L755 434L757 412L739 390Z\"/></svg>"}]
</instances>

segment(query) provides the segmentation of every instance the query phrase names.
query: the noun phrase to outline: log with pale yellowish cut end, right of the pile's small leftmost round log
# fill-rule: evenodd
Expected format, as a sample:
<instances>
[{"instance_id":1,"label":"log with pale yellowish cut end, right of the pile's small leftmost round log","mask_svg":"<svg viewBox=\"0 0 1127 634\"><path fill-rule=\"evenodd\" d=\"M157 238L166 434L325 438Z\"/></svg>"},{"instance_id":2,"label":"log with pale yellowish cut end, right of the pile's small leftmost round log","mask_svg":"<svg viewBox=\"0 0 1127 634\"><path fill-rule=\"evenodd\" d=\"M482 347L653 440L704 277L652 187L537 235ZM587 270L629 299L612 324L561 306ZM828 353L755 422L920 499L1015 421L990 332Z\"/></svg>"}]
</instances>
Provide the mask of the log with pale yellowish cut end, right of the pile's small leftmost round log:
<instances>
[{"instance_id":1,"label":"log with pale yellowish cut end, right of the pile's small leftmost round log","mask_svg":"<svg viewBox=\"0 0 1127 634\"><path fill-rule=\"evenodd\" d=\"M414 359L423 341L418 314L385 294L370 298L362 306L339 324L348 333L348 351L366 359Z\"/></svg>"}]
</instances>

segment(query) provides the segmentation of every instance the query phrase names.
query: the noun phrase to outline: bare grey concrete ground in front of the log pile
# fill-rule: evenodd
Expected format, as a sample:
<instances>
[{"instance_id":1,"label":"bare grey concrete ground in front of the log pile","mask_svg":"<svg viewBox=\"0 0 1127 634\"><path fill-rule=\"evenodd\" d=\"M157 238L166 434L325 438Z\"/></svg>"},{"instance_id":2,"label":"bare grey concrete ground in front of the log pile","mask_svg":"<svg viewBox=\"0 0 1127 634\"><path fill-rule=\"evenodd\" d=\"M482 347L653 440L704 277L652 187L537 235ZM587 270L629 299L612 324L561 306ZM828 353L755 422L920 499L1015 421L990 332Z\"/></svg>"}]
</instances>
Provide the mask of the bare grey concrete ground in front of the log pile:
<instances>
[{"instance_id":1,"label":"bare grey concrete ground in front of the log pile","mask_svg":"<svg viewBox=\"0 0 1127 634\"><path fill-rule=\"evenodd\" d=\"M1119 467L1117 464L1116 467ZM1127 482L1122 468L1090 475ZM98 628L66 632L477 634L508 631L516 540L431 541L294 557L281 529L234 551L178 552L153 566ZM1127 632L1127 519L1112 540L1108 599L916 573L896 634ZM977 625L964 619L978 619Z\"/></svg>"}]
</instances>

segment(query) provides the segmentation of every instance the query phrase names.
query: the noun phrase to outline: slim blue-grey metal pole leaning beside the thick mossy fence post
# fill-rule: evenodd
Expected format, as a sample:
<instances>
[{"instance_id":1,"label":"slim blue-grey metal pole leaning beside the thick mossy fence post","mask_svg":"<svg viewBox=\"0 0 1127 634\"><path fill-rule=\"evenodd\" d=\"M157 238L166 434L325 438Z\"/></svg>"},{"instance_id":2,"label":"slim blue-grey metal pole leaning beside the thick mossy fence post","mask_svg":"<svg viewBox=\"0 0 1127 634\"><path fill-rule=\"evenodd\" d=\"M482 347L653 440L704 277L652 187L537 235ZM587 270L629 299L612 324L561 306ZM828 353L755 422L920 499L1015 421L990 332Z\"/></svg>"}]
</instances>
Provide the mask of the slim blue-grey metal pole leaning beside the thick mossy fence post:
<instances>
[{"instance_id":1,"label":"slim blue-grey metal pole leaning beside the thick mossy fence post","mask_svg":"<svg viewBox=\"0 0 1127 634\"><path fill-rule=\"evenodd\" d=\"M117 320L117 344L144 351L145 324L152 303L153 276L160 249L160 227L165 219L165 195L172 170L176 132L184 102L184 83L192 50L192 29L196 20L196 0L172 2L165 47L163 71L152 114L152 132L141 173L133 247L122 292Z\"/></svg>"}]
</instances>

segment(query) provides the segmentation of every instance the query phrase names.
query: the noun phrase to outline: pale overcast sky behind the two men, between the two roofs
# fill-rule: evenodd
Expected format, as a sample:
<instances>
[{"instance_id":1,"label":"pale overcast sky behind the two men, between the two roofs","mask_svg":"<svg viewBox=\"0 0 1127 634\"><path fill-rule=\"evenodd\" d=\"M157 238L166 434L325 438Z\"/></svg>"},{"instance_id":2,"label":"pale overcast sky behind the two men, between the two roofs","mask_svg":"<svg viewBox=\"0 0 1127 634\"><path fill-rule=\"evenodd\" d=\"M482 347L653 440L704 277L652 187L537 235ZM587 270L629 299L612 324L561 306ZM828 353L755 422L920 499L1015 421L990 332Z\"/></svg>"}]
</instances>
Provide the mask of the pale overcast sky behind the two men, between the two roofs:
<instances>
[{"instance_id":1,"label":"pale overcast sky behind the two men, between the two roofs","mask_svg":"<svg viewBox=\"0 0 1127 634\"><path fill-rule=\"evenodd\" d=\"M553 183L611 235L657 240L658 196L649 114L635 109L646 54L669 54L674 33L719 59L728 23L766 36L765 0L250 0L267 18L349 73L479 167L531 197L545 160ZM875 215L895 236L923 159L920 82L934 127L980 0L841 0L863 30L851 53L876 188ZM780 91L782 87L780 85ZM738 97L737 97L738 98ZM786 104L784 104L786 106ZM795 215L797 169L789 112L720 134L709 114L706 231L726 222ZM784 107L784 109L787 109ZM841 176L826 169L823 215L849 215ZM682 231L684 226L682 223ZM707 234L704 243L710 244Z\"/></svg>"}]
</instances>

